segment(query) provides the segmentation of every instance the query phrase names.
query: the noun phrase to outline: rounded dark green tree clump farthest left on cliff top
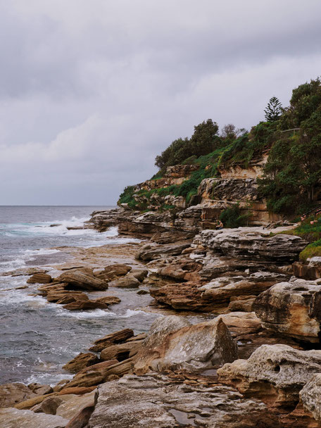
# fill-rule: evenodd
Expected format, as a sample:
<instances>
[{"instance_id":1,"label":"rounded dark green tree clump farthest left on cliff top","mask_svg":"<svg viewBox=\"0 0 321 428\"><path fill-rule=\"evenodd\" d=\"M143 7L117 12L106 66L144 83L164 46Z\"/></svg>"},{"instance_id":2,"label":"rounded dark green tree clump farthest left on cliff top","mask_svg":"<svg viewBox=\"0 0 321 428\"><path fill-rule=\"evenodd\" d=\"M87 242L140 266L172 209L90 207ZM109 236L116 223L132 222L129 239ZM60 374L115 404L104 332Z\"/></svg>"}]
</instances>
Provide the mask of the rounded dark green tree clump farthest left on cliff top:
<instances>
[{"instance_id":1,"label":"rounded dark green tree clump farthest left on cliff top","mask_svg":"<svg viewBox=\"0 0 321 428\"><path fill-rule=\"evenodd\" d=\"M184 162L191 156L207 155L221 145L221 139L218 137L218 124L208 119L194 126L194 134L191 139L178 138L172 141L160 155L155 158L155 165L163 169L171 165L177 165Z\"/></svg>"}]
</instances>

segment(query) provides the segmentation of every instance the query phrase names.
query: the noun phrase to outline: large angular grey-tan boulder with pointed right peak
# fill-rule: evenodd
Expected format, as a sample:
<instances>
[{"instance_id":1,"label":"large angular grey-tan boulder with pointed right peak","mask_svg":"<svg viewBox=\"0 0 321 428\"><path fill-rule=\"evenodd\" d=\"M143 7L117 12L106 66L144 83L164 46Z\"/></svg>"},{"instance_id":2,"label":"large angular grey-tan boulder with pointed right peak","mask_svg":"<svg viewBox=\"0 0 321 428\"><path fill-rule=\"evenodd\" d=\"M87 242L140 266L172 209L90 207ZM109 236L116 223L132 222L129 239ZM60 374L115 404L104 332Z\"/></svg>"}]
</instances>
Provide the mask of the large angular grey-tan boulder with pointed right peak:
<instances>
[{"instance_id":1,"label":"large angular grey-tan boulder with pointed right peak","mask_svg":"<svg viewBox=\"0 0 321 428\"><path fill-rule=\"evenodd\" d=\"M237 344L220 318L191 325L171 315L153 322L135 356L134 372L219 367L237 358Z\"/></svg>"}]
</instances>

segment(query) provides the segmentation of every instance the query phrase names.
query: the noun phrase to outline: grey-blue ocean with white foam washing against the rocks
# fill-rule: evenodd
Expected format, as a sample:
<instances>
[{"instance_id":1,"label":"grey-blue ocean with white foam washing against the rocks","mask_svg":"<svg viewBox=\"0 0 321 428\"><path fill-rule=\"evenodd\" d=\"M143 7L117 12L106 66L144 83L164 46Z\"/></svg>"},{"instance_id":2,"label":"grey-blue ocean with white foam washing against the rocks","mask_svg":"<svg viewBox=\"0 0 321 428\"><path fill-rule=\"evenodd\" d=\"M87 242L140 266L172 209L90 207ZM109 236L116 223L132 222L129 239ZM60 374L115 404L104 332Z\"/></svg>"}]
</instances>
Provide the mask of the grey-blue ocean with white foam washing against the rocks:
<instances>
[{"instance_id":1,"label":"grey-blue ocean with white foam washing against the rocks","mask_svg":"<svg viewBox=\"0 0 321 428\"><path fill-rule=\"evenodd\" d=\"M137 310L149 304L137 290L113 289L122 302L111 310L68 311L42 296L37 284L23 287L27 276L1 276L20 267L65 261L54 247L89 248L137 241L118 237L116 227L99 233L81 227L94 210L106 206L0 206L0 384L56 384L71 374L61 367L95 339L123 328L148 331L155 314ZM50 272L49 272L50 273ZM133 327L134 326L134 327Z\"/></svg>"}]
</instances>

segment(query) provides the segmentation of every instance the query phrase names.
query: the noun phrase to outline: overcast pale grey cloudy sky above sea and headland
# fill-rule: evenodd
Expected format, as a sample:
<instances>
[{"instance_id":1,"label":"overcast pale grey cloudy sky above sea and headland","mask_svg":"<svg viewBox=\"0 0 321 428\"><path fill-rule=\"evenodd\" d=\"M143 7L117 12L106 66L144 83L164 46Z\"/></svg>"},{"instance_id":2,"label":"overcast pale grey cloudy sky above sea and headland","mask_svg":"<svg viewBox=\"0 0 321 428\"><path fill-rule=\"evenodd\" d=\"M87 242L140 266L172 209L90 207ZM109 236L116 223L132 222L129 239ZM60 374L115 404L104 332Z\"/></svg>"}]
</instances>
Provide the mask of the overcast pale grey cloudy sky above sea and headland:
<instances>
[{"instance_id":1,"label":"overcast pale grey cloudy sky above sea and headland","mask_svg":"<svg viewBox=\"0 0 321 428\"><path fill-rule=\"evenodd\" d=\"M0 204L113 205L212 118L321 75L321 1L0 0Z\"/></svg>"}]
</instances>

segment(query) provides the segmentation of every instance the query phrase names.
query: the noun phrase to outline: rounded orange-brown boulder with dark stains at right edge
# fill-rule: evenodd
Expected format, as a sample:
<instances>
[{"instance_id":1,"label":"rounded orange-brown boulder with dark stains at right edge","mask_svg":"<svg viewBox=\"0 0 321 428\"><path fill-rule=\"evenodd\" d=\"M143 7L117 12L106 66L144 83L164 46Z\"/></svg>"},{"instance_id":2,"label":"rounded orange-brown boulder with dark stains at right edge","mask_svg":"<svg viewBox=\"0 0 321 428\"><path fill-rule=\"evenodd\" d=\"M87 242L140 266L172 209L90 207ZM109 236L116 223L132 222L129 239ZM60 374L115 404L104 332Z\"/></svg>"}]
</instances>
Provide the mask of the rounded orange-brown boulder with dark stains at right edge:
<instances>
[{"instance_id":1,"label":"rounded orange-brown boulder with dark stains at right edge","mask_svg":"<svg viewBox=\"0 0 321 428\"><path fill-rule=\"evenodd\" d=\"M321 284L304 279L280 282L261 293L253 310L263 327L303 341L320 341Z\"/></svg>"}]
</instances>

